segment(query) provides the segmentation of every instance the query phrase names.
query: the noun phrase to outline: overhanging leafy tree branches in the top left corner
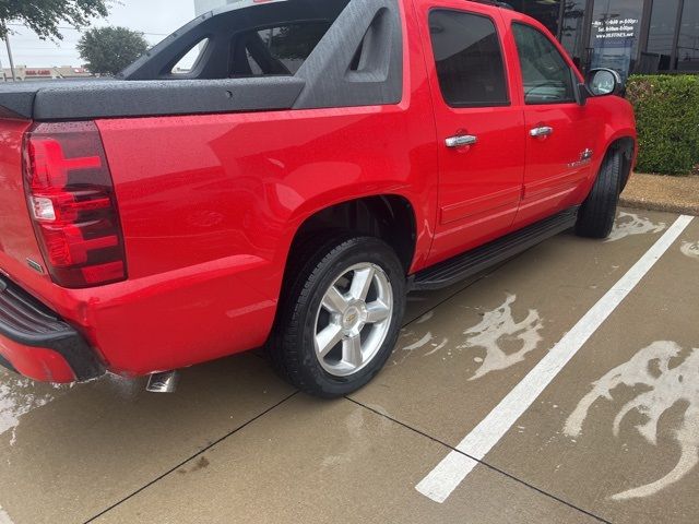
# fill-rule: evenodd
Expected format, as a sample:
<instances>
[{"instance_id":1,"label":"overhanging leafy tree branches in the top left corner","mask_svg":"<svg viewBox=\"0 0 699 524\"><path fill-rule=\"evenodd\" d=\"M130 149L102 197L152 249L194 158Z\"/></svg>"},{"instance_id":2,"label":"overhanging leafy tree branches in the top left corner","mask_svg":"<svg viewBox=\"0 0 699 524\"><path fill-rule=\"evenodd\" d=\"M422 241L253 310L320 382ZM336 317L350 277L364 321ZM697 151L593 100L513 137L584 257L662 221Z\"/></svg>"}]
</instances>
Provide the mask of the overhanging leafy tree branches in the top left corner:
<instances>
[{"instance_id":1,"label":"overhanging leafy tree branches in the top left corner","mask_svg":"<svg viewBox=\"0 0 699 524\"><path fill-rule=\"evenodd\" d=\"M12 33L12 22L26 25L42 38L60 40L59 24L85 27L95 16L107 16L111 0L0 0L0 38Z\"/></svg>"}]
</instances>

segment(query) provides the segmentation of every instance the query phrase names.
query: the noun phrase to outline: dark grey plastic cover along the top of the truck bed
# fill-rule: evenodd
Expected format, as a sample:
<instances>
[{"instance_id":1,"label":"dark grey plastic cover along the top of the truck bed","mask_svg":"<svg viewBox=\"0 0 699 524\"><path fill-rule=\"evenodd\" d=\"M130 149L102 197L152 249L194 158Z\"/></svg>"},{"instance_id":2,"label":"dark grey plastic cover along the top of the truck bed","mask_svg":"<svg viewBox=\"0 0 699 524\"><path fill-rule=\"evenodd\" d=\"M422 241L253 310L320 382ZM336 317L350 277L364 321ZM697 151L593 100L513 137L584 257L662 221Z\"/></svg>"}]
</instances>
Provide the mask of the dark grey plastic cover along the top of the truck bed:
<instances>
[{"instance_id":1,"label":"dark grey plastic cover along the top of the truck bed","mask_svg":"<svg viewBox=\"0 0 699 524\"><path fill-rule=\"evenodd\" d=\"M0 118L54 121L289 109L305 84L294 76L8 82L0 85Z\"/></svg>"}]
</instances>

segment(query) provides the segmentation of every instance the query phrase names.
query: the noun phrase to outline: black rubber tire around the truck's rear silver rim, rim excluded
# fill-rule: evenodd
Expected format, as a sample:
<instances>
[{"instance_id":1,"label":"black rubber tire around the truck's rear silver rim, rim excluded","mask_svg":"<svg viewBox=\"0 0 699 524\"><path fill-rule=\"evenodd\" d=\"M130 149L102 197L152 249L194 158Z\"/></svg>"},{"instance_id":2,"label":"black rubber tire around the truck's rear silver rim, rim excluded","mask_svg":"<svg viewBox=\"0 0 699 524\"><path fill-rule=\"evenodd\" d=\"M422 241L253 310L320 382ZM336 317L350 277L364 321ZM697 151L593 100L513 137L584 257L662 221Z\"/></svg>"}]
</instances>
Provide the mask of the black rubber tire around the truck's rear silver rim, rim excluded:
<instances>
[{"instance_id":1,"label":"black rubber tire around the truck's rear silver rim, rim excluded","mask_svg":"<svg viewBox=\"0 0 699 524\"><path fill-rule=\"evenodd\" d=\"M403 265L386 242L374 237L334 236L332 240L315 242L315 247L306 243L294 257L292 271L287 272L291 281L280 300L275 329L268 343L272 365L283 379L311 395L334 398L350 394L374 379L393 352L405 312ZM337 275L364 263L379 266L388 277L393 298L390 326L366 367L337 377L323 368L316 354L317 314Z\"/></svg>"}]
</instances>

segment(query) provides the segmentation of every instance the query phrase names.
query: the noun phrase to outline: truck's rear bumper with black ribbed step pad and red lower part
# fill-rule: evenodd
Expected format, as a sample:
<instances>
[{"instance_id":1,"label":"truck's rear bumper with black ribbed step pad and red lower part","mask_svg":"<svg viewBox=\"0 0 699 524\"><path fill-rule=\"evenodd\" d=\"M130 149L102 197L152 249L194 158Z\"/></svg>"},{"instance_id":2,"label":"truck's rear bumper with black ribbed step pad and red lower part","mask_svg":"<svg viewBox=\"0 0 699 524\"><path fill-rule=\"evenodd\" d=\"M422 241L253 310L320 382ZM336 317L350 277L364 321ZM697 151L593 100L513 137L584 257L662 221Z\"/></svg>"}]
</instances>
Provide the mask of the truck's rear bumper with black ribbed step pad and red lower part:
<instances>
[{"instance_id":1,"label":"truck's rear bumper with black ribbed step pad and red lower part","mask_svg":"<svg viewBox=\"0 0 699 524\"><path fill-rule=\"evenodd\" d=\"M2 277L0 366L42 382L85 381L105 373L75 329Z\"/></svg>"}]
</instances>

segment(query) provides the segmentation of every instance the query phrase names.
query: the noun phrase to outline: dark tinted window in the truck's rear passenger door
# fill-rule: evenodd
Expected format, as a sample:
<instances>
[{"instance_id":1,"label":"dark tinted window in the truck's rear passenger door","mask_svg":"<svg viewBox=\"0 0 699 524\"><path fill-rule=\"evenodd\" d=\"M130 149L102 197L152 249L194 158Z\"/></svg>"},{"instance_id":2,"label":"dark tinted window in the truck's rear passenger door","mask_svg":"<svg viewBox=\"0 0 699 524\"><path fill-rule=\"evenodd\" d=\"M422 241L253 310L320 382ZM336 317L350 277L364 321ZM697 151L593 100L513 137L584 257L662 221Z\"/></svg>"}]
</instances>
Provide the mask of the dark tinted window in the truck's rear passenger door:
<instances>
[{"instance_id":1,"label":"dark tinted window in the truck's rear passenger door","mask_svg":"<svg viewBox=\"0 0 699 524\"><path fill-rule=\"evenodd\" d=\"M509 104L502 50L493 20L438 9L429 13L429 33L439 86L449 106Z\"/></svg>"}]
</instances>

